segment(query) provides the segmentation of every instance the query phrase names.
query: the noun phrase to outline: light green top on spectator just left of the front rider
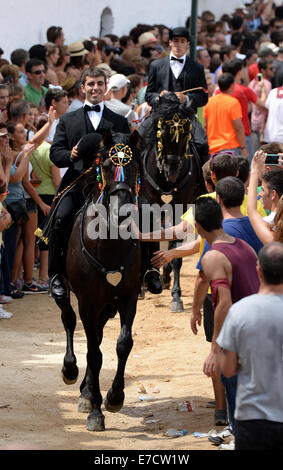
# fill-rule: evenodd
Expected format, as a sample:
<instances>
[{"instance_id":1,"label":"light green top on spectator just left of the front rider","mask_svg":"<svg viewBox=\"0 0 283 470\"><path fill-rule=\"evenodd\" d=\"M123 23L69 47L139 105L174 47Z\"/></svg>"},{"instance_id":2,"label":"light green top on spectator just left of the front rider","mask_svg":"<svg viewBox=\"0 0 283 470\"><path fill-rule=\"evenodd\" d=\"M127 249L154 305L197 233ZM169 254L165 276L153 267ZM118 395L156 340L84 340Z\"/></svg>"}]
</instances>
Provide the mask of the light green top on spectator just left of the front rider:
<instances>
[{"instance_id":1,"label":"light green top on spectator just left of the front rider","mask_svg":"<svg viewBox=\"0 0 283 470\"><path fill-rule=\"evenodd\" d=\"M51 172L53 163L49 158L50 147L51 145L48 142L43 142L30 157L32 169L41 179L41 183L37 188L38 194L54 195L56 193Z\"/></svg>"}]
</instances>

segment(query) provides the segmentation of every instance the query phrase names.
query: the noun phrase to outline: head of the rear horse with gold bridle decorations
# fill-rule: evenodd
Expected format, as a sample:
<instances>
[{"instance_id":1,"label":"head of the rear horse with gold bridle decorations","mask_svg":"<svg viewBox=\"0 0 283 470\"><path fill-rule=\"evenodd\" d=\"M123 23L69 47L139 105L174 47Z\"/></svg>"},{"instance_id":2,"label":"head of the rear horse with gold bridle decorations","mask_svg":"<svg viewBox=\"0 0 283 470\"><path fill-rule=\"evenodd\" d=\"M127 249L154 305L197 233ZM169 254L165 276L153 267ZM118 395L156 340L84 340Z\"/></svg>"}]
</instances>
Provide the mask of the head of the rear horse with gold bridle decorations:
<instances>
[{"instance_id":1,"label":"head of the rear horse with gold bridle decorations","mask_svg":"<svg viewBox=\"0 0 283 470\"><path fill-rule=\"evenodd\" d=\"M170 183L177 181L184 160L190 157L193 115L190 105L181 104L175 93L159 97L153 107L152 140L156 146L157 164Z\"/></svg>"}]
</instances>

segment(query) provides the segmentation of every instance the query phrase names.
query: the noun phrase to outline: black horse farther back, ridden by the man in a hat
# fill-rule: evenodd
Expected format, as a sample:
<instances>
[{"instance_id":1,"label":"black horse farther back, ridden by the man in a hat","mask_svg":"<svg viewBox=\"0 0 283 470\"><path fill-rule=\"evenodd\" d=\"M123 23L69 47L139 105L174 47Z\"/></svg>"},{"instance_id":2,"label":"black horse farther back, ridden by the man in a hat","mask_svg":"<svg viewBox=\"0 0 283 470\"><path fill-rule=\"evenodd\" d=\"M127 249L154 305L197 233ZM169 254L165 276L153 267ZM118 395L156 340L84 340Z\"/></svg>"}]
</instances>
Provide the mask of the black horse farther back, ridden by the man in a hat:
<instances>
[{"instance_id":1,"label":"black horse farther back, ridden by the man in a hat","mask_svg":"<svg viewBox=\"0 0 283 470\"><path fill-rule=\"evenodd\" d=\"M180 212L187 210L188 204L206 193L202 175L202 165L209 155L206 134L190 105L181 104L175 93L166 93L159 98L149 118L141 126L140 133L145 142L141 155L140 203L155 203L158 206L170 204L173 208L178 205L179 217ZM171 224L179 222L180 219L176 220L173 212ZM177 243L169 242L169 248ZM143 243L142 247L143 259L148 261L158 249L158 244ZM181 265L181 258L174 259L163 270L163 279L169 283L170 272L174 272L172 312L183 310ZM143 272L150 269L150 265L146 264Z\"/></svg>"}]
</instances>

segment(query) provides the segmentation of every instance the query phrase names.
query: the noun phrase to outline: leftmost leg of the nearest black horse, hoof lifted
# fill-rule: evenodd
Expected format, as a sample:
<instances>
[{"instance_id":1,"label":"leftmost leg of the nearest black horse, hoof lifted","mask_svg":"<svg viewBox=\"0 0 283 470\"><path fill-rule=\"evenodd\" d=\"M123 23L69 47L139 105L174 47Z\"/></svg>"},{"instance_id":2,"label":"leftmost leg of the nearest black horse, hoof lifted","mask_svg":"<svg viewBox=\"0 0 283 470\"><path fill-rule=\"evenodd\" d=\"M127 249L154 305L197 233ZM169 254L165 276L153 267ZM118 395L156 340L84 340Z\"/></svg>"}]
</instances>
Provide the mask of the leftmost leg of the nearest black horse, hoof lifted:
<instances>
[{"instance_id":1,"label":"leftmost leg of the nearest black horse, hoof lifted","mask_svg":"<svg viewBox=\"0 0 283 470\"><path fill-rule=\"evenodd\" d=\"M61 310L61 319L66 331L66 354L64 356L62 366L62 378L67 384L73 384L77 381L79 370L77 367L77 359L74 354L74 331L76 328L76 314L71 306L70 293L65 299L56 300Z\"/></svg>"}]
</instances>

